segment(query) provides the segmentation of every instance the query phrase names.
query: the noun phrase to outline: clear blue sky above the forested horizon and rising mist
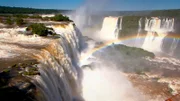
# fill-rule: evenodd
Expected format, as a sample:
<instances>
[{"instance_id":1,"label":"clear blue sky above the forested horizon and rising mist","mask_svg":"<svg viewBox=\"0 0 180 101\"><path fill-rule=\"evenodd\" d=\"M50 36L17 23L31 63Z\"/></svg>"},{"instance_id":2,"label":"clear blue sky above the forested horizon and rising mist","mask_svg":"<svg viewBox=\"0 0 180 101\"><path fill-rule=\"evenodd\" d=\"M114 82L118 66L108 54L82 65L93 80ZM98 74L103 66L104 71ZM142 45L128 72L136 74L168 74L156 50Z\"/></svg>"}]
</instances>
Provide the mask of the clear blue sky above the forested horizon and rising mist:
<instances>
[{"instance_id":1,"label":"clear blue sky above the forested horizon and rising mist","mask_svg":"<svg viewBox=\"0 0 180 101\"><path fill-rule=\"evenodd\" d=\"M77 9L86 1L92 3L93 7L103 5L103 9L116 11L180 8L180 0L0 0L0 5L48 9Z\"/></svg>"}]
</instances>

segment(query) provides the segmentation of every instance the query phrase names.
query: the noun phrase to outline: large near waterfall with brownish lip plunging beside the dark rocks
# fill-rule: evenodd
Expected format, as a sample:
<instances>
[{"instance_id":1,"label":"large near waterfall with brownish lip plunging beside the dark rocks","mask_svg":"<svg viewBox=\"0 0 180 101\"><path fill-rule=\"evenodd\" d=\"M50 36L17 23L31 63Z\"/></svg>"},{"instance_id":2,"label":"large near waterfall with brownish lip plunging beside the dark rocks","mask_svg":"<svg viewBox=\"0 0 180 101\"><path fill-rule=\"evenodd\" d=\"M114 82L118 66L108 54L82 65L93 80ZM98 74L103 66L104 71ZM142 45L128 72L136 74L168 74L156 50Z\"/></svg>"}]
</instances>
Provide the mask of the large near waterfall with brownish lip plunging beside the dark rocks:
<instances>
[{"instance_id":1,"label":"large near waterfall with brownish lip plunging beside the dark rocks","mask_svg":"<svg viewBox=\"0 0 180 101\"><path fill-rule=\"evenodd\" d=\"M35 84L44 96L43 101L73 101L81 95L81 33L72 23L52 27L61 38L36 55L41 61L41 75L36 77Z\"/></svg>"}]
</instances>

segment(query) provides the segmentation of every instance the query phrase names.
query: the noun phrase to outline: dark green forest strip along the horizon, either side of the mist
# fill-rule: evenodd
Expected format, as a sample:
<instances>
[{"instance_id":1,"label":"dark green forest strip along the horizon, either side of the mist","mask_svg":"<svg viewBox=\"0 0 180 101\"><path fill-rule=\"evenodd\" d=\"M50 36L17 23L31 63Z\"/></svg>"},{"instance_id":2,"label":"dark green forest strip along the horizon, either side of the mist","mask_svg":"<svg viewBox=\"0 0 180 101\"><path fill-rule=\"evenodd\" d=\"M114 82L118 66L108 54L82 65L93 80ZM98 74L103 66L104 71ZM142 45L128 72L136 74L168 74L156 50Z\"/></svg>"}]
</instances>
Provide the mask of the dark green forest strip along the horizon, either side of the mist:
<instances>
[{"instance_id":1,"label":"dark green forest strip along the horizon, either side of the mist","mask_svg":"<svg viewBox=\"0 0 180 101\"><path fill-rule=\"evenodd\" d=\"M68 10L56 10L56 9L34 9L23 7L6 7L0 6L1 14L52 14L63 13ZM103 14L114 16L163 16L163 17L179 17L180 9L171 10L154 10L154 11L111 11L103 12Z\"/></svg>"}]
</instances>

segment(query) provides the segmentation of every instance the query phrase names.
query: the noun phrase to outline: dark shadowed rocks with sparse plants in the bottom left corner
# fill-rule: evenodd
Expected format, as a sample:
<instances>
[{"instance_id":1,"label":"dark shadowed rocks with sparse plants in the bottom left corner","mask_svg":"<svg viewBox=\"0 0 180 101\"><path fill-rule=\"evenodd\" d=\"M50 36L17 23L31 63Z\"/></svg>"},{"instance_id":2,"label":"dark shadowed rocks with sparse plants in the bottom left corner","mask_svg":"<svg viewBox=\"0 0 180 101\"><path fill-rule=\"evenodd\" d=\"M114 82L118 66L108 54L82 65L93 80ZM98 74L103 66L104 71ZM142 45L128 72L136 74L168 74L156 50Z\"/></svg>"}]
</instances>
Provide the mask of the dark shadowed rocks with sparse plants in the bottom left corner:
<instances>
[{"instance_id":1,"label":"dark shadowed rocks with sparse plants in the bottom left corner","mask_svg":"<svg viewBox=\"0 0 180 101\"><path fill-rule=\"evenodd\" d=\"M30 79L35 75L39 75L37 62L17 63L1 71L1 101L36 101L37 89Z\"/></svg>"}]
</instances>

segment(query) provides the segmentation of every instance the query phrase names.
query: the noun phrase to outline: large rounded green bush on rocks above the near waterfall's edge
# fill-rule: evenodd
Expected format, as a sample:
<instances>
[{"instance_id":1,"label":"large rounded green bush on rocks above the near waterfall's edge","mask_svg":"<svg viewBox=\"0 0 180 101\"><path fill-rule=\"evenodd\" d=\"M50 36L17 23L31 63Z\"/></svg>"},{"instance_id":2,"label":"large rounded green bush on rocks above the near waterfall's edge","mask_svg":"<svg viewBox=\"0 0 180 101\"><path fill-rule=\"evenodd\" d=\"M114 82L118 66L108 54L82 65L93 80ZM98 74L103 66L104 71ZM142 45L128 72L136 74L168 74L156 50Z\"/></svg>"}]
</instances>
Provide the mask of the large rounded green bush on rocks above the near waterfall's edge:
<instances>
[{"instance_id":1,"label":"large rounded green bush on rocks above the near waterfall's edge","mask_svg":"<svg viewBox=\"0 0 180 101\"><path fill-rule=\"evenodd\" d=\"M31 31L32 34L37 34L39 36L56 35L56 33L53 32L52 28L48 28L44 24L40 23L29 25L26 28L26 31Z\"/></svg>"}]
</instances>

